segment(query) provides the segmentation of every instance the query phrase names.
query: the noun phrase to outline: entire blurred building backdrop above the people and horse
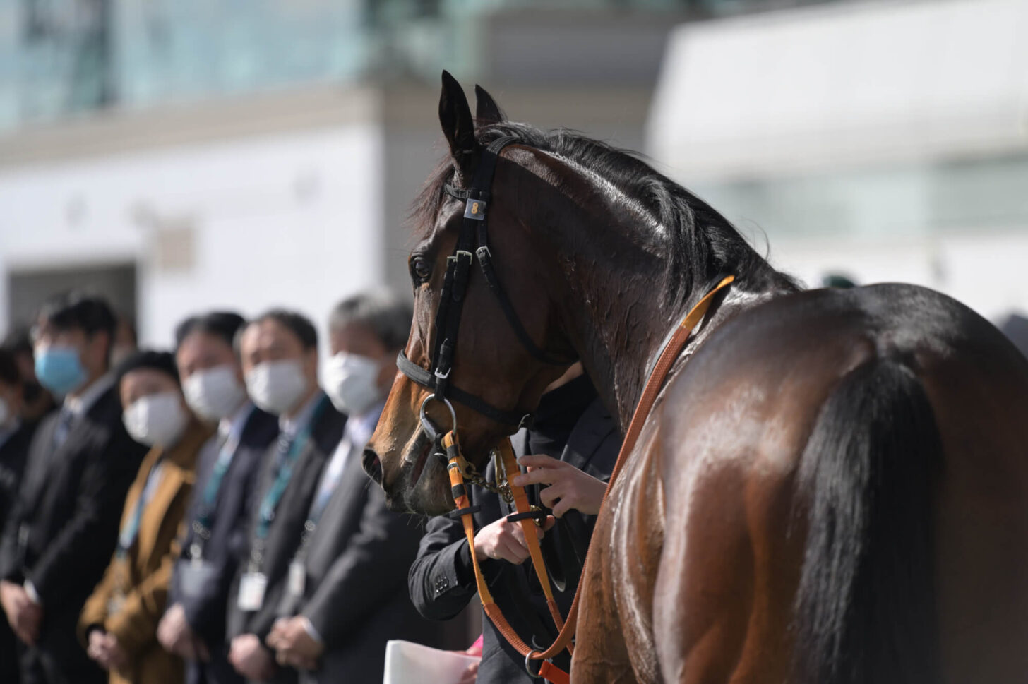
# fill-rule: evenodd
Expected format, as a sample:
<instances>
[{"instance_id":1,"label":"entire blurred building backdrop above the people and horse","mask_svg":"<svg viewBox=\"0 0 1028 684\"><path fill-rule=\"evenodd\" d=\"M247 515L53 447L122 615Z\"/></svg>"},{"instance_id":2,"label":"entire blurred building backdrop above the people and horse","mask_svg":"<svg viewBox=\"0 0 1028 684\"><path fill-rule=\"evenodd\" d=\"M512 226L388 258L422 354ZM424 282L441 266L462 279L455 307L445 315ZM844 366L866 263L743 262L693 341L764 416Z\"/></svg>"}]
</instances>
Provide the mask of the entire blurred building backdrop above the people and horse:
<instances>
[{"instance_id":1,"label":"entire blurred building backdrop above the people and horse","mask_svg":"<svg viewBox=\"0 0 1028 684\"><path fill-rule=\"evenodd\" d=\"M153 345L197 308L323 320L357 290L408 291L442 68L515 119L646 148L809 282L1024 306L1003 261L1028 223L1024 7L0 3L0 330L75 284Z\"/></svg>"}]
</instances>

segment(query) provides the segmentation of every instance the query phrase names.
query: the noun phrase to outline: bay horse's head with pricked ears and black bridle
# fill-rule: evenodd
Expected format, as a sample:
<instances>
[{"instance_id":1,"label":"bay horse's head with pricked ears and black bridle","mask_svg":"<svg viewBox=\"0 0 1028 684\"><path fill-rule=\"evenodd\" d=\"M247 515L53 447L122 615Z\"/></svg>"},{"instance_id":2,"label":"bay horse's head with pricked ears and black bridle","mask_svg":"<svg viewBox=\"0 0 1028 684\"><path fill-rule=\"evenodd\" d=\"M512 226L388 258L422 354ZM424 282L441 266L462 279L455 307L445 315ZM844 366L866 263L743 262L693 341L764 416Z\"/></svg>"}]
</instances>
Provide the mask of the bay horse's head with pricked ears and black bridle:
<instances>
[{"instance_id":1,"label":"bay horse's head with pricked ears and black bridle","mask_svg":"<svg viewBox=\"0 0 1028 684\"><path fill-rule=\"evenodd\" d=\"M464 90L443 73L439 122L449 154L416 202L418 236L408 258L414 317L364 453L365 470L396 510L452 509L438 436L453 429L465 457L484 470L489 451L523 424L545 387L575 360L549 294L559 268L540 257L530 227L514 212L525 183L538 179L524 179L508 157L530 152L511 147L500 158L479 142L476 134L504 117L485 90L476 86L476 94L473 119ZM473 187L483 163L490 178ZM469 198L469 190L481 192Z\"/></svg>"}]
</instances>

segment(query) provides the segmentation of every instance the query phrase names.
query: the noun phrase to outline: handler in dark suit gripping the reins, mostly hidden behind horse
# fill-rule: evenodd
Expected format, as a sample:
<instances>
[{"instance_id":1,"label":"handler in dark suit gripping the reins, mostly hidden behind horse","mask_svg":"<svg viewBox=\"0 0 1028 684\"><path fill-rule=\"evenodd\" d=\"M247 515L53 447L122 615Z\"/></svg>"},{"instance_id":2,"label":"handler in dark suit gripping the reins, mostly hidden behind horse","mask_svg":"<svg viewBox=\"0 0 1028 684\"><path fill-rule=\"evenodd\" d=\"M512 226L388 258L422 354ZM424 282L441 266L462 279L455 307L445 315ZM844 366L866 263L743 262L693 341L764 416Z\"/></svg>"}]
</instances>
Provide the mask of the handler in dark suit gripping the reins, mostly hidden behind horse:
<instances>
[{"instance_id":1,"label":"handler in dark suit gripping the reins, mostly hidden behind horse","mask_svg":"<svg viewBox=\"0 0 1028 684\"><path fill-rule=\"evenodd\" d=\"M552 508L542 545L551 575L560 580L554 596L566 615L622 436L580 364L547 389L531 428L513 439L515 453L522 454L518 462L529 466L515 484L528 487L530 501ZM491 462L485 477L490 481L495 477ZM421 615L437 620L461 612L477 593L474 553L511 625L529 643L535 639L540 646L549 646L557 630L531 564L525 563L528 548L521 527L505 518L515 512L513 506L491 492L474 487L470 491L473 504L481 506L474 515L478 530L474 548L468 545L460 519L431 519L408 576L414 605ZM538 533L543 537L542 530ZM469 679L477 670L473 681L479 684L537 681L525 671L524 657L484 614L482 631L482 659L472 667ZM571 667L566 652L555 664L566 672Z\"/></svg>"}]
</instances>

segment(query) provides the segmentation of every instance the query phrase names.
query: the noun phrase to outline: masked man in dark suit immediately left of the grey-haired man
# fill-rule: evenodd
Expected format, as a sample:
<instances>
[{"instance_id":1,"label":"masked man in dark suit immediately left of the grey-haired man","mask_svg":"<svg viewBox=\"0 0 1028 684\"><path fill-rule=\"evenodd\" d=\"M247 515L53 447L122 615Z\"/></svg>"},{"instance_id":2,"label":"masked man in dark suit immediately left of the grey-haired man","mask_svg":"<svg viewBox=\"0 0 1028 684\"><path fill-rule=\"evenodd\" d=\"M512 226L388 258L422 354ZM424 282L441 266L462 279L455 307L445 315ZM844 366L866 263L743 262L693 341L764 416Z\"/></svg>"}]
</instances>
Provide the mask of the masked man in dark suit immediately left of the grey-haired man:
<instances>
[{"instance_id":1,"label":"masked man in dark suit immediately left of the grey-haired man","mask_svg":"<svg viewBox=\"0 0 1028 684\"><path fill-rule=\"evenodd\" d=\"M265 639L278 617L289 562L300 543L322 467L342 436L346 417L318 385L318 333L304 316L282 309L253 320L240 338L247 392L279 416L249 526L248 557L230 594L228 660L249 681L292 682Z\"/></svg>"}]
</instances>

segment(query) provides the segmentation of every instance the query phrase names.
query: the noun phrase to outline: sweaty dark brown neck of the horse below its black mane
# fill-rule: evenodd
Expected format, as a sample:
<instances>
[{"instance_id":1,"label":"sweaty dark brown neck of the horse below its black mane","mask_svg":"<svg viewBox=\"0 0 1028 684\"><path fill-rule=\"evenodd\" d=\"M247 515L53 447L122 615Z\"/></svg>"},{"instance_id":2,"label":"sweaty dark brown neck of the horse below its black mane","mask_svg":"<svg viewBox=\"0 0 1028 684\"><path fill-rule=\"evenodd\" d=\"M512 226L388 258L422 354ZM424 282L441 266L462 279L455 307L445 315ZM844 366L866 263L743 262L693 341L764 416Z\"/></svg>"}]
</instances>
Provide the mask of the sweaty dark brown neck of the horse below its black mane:
<instances>
[{"instance_id":1,"label":"sweaty dark brown neck of the horse below its black mane","mask_svg":"<svg viewBox=\"0 0 1028 684\"><path fill-rule=\"evenodd\" d=\"M555 155L529 154L534 159L526 169L539 178L560 179L555 183L561 189L559 203L545 206L538 201L540 193L521 204L538 207L523 217L525 225L545 227L539 236L547 243L536 258L547 264L541 277L548 278L548 291L554 293L555 319L625 431L668 335L719 273L671 273L671 240L681 235L589 169ZM700 204L694 210L712 213ZM698 237L710 242L706 232ZM741 237L729 236L728 241L730 246L720 248L724 254L709 261L731 264L727 268L737 276L733 292L710 310L686 354L733 311L795 289ZM712 243L707 252L712 254Z\"/></svg>"}]
</instances>

